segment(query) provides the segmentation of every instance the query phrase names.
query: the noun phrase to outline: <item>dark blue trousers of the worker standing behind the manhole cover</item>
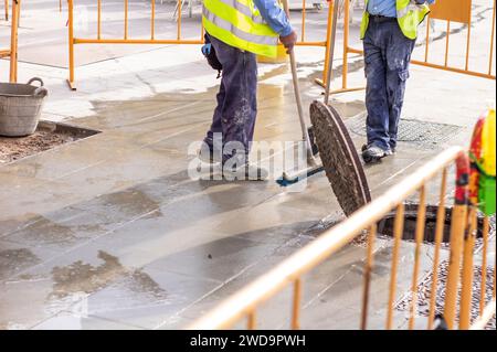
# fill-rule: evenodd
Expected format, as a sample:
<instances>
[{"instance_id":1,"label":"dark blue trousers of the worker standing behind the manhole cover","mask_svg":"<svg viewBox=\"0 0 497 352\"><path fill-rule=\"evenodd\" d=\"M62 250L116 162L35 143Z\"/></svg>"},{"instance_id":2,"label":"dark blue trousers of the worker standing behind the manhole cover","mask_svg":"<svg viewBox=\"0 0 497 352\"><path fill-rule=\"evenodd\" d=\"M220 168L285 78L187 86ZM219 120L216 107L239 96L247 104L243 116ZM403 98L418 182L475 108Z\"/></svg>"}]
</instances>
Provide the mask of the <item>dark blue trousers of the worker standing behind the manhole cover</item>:
<instances>
[{"instance_id":1,"label":"dark blue trousers of the worker standing behind the manhole cover","mask_svg":"<svg viewBox=\"0 0 497 352\"><path fill-rule=\"evenodd\" d=\"M408 39L396 19L371 17L363 40L368 145L395 149L405 82L415 40Z\"/></svg>"}]
</instances>

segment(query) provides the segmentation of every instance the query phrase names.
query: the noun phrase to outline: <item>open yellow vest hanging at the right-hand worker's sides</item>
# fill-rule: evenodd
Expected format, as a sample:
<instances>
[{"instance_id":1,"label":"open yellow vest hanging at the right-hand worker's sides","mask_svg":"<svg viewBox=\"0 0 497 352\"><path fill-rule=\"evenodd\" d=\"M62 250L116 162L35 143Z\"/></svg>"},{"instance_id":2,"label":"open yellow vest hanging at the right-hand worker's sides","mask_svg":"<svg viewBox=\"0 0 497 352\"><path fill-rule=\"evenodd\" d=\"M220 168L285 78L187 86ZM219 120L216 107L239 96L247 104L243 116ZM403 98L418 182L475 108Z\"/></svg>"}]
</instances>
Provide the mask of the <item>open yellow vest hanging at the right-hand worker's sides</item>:
<instances>
[{"instance_id":1,"label":"open yellow vest hanging at the right-hand worker's sides","mask_svg":"<svg viewBox=\"0 0 497 352\"><path fill-rule=\"evenodd\" d=\"M430 13L427 4L417 4L411 0L396 0L396 21L402 33L409 39L417 38L417 26L423 22L426 14ZM366 0L366 10L362 15L361 39L364 38L369 25L368 0Z\"/></svg>"}]
</instances>

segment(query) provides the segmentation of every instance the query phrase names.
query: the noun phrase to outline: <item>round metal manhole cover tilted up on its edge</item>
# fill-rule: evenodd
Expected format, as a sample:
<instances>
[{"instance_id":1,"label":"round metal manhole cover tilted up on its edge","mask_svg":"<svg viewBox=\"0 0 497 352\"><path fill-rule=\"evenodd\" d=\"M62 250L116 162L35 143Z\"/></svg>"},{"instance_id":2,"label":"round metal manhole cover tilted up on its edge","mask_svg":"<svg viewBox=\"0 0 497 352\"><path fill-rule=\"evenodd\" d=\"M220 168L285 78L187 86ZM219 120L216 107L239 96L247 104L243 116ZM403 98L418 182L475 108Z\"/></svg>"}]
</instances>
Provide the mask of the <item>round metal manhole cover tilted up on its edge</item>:
<instances>
[{"instance_id":1,"label":"round metal manhole cover tilted up on its edge","mask_svg":"<svg viewBox=\"0 0 497 352\"><path fill-rule=\"evenodd\" d=\"M362 163L337 110L320 102L310 105L316 143L338 203L347 216L371 202Z\"/></svg>"}]
</instances>

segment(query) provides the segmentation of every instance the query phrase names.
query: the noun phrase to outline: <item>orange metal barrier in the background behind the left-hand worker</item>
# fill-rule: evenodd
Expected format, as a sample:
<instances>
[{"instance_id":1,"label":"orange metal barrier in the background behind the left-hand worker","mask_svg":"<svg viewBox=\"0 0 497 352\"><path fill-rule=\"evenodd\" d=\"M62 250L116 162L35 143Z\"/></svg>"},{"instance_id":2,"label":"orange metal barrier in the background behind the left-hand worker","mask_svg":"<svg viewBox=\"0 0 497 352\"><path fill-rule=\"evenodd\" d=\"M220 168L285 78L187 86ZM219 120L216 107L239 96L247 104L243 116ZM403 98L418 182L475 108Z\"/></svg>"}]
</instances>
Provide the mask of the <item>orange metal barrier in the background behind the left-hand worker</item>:
<instances>
[{"instance_id":1,"label":"orange metal barrier in the background behind the left-hand worker","mask_svg":"<svg viewBox=\"0 0 497 352\"><path fill-rule=\"evenodd\" d=\"M97 3L97 14L96 14L96 26L97 34L96 38L78 38L74 33L74 0L67 0L67 12L68 12L68 66L70 66L70 77L67 83L71 89L75 90L75 64L74 64L74 45L76 44L203 44L203 34L204 29L200 23L199 28L199 38L198 39L183 39L182 36L182 1L178 0L178 18L177 18L177 29L176 29L176 38L171 39L159 39L156 34L156 2L151 0L150 4L150 34L147 39L131 39L129 38L129 0L124 0L124 9L123 9L123 36L121 38L103 38L102 35L102 0L96 0ZM326 77L326 67L328 67L329 61L329 50L330 45L328 43L328 38L331 31L331 19L334 11L334 0L328 0L328 20L327 20L327 36L322 41L308 41L308 31L306 31L306 20L308 18L308 11L306 10L306 0L303 1L303 11L302 11L302 26L300 26L300 41L297 45L300 46L318 46L322 47L326 52L325 54L325 73L324 77Z\"/></svg>"}]
</instances>

